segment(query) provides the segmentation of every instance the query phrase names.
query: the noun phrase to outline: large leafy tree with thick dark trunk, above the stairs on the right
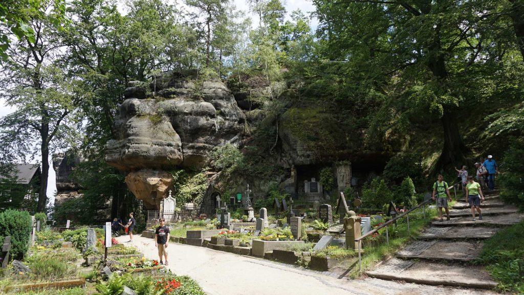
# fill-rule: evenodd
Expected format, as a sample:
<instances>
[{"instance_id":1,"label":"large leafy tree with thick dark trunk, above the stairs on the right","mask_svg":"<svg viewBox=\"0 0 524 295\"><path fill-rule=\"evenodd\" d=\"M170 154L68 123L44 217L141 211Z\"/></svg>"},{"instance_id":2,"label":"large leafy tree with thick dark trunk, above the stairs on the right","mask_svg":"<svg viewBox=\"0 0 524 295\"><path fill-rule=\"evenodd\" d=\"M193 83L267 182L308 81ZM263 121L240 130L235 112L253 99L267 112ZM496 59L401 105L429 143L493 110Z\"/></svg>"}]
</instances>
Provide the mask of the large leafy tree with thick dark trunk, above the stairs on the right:
<instances>
[{"instance_id":1,"label":"large leafy tree with thick dark trunk, above the stairs on the right","mask_svg":"<svg viewBox=\"0 0 524 295\"><path fill-rule=\"evenodd\" d=\"M444 132L439 165L463 162L468 148L456 119L461 107L492 97L497 69L505 68L500 61L521 58L505 16L508 3L314 3L323 56L344 62L348 77L341 80L357 85L356 95L379 99L370 134L380 141L408 134L417 115L429 113Z\"/></svg>"}]
</instances>

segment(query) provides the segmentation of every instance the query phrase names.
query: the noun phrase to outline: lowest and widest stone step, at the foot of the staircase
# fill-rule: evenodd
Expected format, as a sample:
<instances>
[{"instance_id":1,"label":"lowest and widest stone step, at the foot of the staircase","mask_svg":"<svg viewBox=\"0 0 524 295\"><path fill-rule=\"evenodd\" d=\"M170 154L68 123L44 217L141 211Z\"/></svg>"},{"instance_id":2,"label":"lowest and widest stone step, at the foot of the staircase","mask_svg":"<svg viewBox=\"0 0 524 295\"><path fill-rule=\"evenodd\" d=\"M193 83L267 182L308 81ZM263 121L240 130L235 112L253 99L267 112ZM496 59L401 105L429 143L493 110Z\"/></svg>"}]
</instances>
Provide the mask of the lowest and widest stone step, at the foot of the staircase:
<instances>
[{"instance_id":1,"label":"lowest and widest stone step, at the foot of the staircase","mask_svg":"<svg viewBox=\"0 0 524 295\"><path fill-rule=\"evenodd\" d=\"M421 285L492 289L497 283L484 267L460 264L436 264L426 261L391 258L366 275L384 280L397 280Z\"/></svg>"}]
</instances>

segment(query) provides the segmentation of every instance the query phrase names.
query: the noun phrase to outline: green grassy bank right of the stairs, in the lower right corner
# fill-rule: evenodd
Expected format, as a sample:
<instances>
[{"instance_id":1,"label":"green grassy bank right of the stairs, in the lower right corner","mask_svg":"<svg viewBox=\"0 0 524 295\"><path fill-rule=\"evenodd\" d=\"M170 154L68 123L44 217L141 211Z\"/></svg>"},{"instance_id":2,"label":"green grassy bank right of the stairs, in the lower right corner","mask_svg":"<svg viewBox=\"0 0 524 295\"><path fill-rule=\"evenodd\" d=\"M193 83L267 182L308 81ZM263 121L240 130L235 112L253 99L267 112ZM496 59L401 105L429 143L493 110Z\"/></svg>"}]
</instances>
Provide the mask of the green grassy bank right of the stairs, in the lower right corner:
<instances>
[{"instance_id":1,"label":"green grassy bank right of the stairs, in the lower right corner","mask_svg":"<svg viewBox=\"0 0 524 295\"><path fill-rule=\"evenodd\" d=\"M484 242L481 255L474 264L485 265L504 292L524 294L524 274L519 274L519 263L524 265L524 221L497 232Z\"/></svg>"}]
</instances>

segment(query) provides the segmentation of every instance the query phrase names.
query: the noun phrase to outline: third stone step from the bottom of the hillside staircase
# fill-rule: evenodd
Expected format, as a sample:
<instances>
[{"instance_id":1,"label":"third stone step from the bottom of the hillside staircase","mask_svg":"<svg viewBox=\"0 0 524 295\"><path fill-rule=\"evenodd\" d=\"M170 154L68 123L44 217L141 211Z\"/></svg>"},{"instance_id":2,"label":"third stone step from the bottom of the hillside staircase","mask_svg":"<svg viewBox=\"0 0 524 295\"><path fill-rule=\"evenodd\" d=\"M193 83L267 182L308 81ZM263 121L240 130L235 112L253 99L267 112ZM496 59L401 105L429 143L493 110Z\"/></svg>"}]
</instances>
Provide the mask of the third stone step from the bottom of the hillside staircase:
<instances>
[{"instance_id":1,"label":"third stone step from the bottom of the hillside staircase","mask_svg":"<svg viewBox=\"0 0 524 295\"><path fill-rule=\"evenodd\" d=\"M458 226L432 226L426 228L418 239L486 239L492 237L500 228L498 227L458 227Z\"/></svg>"}]
</instances>

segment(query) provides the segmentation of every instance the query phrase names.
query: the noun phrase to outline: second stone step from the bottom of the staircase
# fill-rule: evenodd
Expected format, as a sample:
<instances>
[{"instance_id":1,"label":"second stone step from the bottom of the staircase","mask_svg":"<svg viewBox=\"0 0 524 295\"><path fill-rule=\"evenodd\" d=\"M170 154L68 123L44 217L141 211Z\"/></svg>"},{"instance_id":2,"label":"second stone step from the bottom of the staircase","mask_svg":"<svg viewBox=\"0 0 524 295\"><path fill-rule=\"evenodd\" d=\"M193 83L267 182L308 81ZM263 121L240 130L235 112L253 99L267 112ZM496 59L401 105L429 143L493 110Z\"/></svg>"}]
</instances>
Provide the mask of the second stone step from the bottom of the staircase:
<instances>
[{"instance_id":1,"label":"second stone step from the bottom of the staircase","mask_svg":"<svg viewBox=\"0 0 524 295\"><path fill-rule=\"evenodd\" d=\"M481 241L414 241L397 252L402 259L472 261L481 253Z\"/></svg>"}]
</instances>

